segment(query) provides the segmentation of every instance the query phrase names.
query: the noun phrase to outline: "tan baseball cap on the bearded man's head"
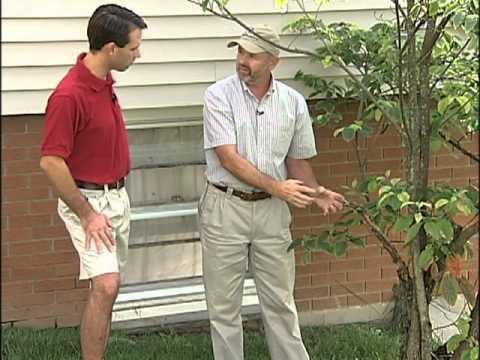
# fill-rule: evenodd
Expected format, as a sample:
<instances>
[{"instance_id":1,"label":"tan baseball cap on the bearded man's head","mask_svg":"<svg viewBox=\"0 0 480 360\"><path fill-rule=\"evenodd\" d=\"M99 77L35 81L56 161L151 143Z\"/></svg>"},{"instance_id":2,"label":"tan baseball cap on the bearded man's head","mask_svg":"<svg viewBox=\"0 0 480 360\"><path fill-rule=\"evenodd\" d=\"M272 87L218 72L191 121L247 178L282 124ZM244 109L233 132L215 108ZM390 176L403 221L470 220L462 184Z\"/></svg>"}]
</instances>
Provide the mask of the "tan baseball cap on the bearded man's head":
<instances>
[{"instance_id":1,"label":"tan baseball cap on the bearded man's head","mask_svg":"<svg viewBox=\"0 0 480 360\"><path fill-rule=\"evenodd\" d=\"M271 41L274 44L280 45L280 37L278 34L273 31L273 29L268 26L268 25L257 25L253 29L258 35L262 36L263 38ZM247 50L249 53L252 54L259 54L262 52L268 52L272 54L273 56L278 56L280 54L280 50L273 46L272 44L256 37L254 34L251 32L244 32L240 39L230 41L227 46L228 47L233 47L233 46L241 46L245 50Z\"/></svg>"}]
</instances>

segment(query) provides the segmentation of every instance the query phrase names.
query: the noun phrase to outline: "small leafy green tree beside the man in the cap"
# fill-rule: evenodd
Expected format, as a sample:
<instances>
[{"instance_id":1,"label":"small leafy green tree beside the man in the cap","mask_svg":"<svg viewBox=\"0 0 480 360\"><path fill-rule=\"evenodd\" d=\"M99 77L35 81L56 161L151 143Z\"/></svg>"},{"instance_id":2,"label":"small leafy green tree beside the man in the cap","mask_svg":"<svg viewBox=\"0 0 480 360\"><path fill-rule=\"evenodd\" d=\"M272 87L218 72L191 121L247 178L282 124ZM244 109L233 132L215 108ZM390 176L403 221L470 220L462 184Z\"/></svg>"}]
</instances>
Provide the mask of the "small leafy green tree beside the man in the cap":
<instances>
[{"instance_id":1,"label":"small leafy green tree beside the man in the cap","mask_svg":"<svg viewBox=\"0 0 480 360\"><path fill-rule=\"evenodd\" d=\"M254 33L228 10L226 0L188 1ZM397 266L395 312L406 344L402 358L432 358L429 304L439 294L455 304L463 292L471 316L457 322L460 334L449 341L448 349L455 351L456 359L478 359L479 298L461 271L461 259L474 256L469 239L478 233L478 188L429 183L430 154L442 146L479 162L478 154L463 146L463 140L479 130L478 0L402 4L392 0L394 20L368 30L346 23L325 25L318 8L312 11L303 0L294 2L303 15L284 30L308 34L319 46L314 50L296 48L294 43L277 47L324 66L338 66L348 75L338 84L297 73L296 79L314 89L311 96L324 98L317 103L315 122L339 124L334 135L354 141L357 149L361 137L375 138L392 127L406 148L404 174L397 178L390 171L368 176L368 159L357 151L362 178L346 189L349 206L343 218L295 245L302 245L307 254L321 249L341 256L350 243L364 246L364 240L349 229L367 225ZM316 1L319 6L322 2ZM277 0L278 6L287 3ZM336 112L338 98L356 100L353 122L343 122ZM460 214L471 221L456 222ZM394 233L402 234L408 259L395 246Z\"/></svg>"}]
</instances>

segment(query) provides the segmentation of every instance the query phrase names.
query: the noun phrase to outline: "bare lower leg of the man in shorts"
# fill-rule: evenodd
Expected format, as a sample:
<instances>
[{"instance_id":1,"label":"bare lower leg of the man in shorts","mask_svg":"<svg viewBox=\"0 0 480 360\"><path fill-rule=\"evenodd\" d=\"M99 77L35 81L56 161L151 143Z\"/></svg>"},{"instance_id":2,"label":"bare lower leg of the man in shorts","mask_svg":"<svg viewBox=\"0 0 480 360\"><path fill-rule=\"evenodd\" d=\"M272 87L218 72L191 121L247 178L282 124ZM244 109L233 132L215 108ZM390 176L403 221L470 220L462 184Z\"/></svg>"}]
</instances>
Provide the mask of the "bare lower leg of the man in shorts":
<instances>
[{"instance_id":1,"label":"bare lower leg of the man in shorts","mask_svg":"<svg viewBox=\"0 0 480 360\"><path fill-rule=\"evenodd\" d=\"M80 330L82 354L84 360L101 360L110 336L112 308L120 287L120 275L96 276L91 279L91 285Z\"/></svg>"}]
</instances>

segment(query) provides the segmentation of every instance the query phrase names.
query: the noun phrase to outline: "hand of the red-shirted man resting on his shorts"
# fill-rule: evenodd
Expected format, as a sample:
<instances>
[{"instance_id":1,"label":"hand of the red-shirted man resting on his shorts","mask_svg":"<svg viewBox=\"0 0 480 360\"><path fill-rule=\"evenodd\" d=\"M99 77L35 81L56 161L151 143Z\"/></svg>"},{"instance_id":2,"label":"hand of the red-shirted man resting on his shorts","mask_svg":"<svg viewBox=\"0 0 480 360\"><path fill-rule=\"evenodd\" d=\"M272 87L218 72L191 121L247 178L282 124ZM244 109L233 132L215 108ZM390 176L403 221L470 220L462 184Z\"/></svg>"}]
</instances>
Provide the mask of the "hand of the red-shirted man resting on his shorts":
<instances>
[{"instance_id":1,"label":"hand of the red-shirted man resting on his shorts","mask_svg":"<svg viewBox=\"0 0 480 360\"><path fill-rule=\"evenodd\" d=\"M85 246L89 250L92 239L95 241L97 252L102 251L102 243L112 252L115 246L115 238L112 234L112 221L105 215L91 212L86 218L80 220L85 230Z\"/></svg>"}]
</instances>

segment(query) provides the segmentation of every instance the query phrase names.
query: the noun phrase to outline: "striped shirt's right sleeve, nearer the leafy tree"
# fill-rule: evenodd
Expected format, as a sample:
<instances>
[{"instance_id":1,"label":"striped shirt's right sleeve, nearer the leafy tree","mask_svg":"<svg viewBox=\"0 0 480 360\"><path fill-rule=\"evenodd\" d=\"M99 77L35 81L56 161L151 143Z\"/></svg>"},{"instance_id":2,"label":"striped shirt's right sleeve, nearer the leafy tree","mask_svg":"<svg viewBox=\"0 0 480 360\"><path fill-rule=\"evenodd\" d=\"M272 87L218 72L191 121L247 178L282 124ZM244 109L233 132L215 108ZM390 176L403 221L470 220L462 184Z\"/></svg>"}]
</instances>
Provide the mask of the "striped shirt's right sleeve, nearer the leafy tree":
<instances>
[{"instance_id":1,"label":"striped shirt's right sleeve, nearer the leafy tree","mask_svg":"<svg viewBox=\"0 0 480 360\"><path fill-rule=\"evenodd\" d=\"M287 156L293 159L309 159L317 155L312 120L303 98L297 102L295 132Z\"/></svg>"}]
</instances>

